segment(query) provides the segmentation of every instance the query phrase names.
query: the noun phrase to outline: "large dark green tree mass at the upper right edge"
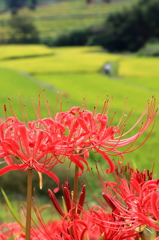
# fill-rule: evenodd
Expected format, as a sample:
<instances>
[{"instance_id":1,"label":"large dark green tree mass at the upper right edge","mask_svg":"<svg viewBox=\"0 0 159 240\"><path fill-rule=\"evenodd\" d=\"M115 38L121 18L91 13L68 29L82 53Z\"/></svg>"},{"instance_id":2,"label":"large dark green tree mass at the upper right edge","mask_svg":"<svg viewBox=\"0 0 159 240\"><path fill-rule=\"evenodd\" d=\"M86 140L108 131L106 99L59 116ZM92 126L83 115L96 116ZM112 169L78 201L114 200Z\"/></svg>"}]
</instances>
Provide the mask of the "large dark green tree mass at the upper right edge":
<instances>
[{"instance_id":1,"label":"large dark green tree mass at the upper right edge","mask_svg":"<svg viewBox=\"0 0 159 240\"><path fill-rule=\"evenodd\" d=\"M110 14L99 44L109 51L137 51L150 38L159 38L159 2L141 0L131 9Z\"/></svg>"}]
</instances>

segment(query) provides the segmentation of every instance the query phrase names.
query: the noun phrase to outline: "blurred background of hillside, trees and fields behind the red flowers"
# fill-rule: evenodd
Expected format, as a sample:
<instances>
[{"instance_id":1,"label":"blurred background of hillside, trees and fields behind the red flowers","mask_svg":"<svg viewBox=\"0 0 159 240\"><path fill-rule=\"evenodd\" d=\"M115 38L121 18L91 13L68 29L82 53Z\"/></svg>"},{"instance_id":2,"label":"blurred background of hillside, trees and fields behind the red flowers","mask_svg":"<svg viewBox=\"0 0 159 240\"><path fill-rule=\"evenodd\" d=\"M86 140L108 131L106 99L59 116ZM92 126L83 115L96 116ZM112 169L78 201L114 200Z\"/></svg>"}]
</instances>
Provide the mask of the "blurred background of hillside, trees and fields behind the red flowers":
<instances>
[{"instance_id":1,"label":"blurred background of hillside, trees and fields behind the red flowers","mask_svg":"<svg viewBox=\"0 0 159 240\"><path fill-rule=\"evenodd\" d=\"M104 100L109 98L109 118L117 111L113 125L119 122L128 96L125 118L134 108L127 123L129 129L152 95L159 101L158 56L158 0L0 0L0 118L5 118L6 104L9 116L12 105L18 117L26 112L30 120L36 119L32 101L37 105L39 92L42 117L48 116L44 88L53 115L60 109L57 96L64 111L81 106L84 99L87 109L93 111L97 106L100 112ZM158 118L145 145L127 154L124 162L140 170L151 169L155 162L156 177ZM99 156L91 154L92 166L94 160L107 167ZM68 163L54 169L61 183L66 179L63 171L67 168ZM72 170L68 175L73 181ZM95 181L89 181L91 177L91 173L86 176L96 191ZM54 188L47 176L43 180L44 188L39 190L38 176L34 174L37 195L45 196L48 188ZM7 173L0 178L0 186L13 199L15 194L16 199L23 199L26 173ZM4 221L3 214L0 221Z\"/></svg>"}]
</instances>

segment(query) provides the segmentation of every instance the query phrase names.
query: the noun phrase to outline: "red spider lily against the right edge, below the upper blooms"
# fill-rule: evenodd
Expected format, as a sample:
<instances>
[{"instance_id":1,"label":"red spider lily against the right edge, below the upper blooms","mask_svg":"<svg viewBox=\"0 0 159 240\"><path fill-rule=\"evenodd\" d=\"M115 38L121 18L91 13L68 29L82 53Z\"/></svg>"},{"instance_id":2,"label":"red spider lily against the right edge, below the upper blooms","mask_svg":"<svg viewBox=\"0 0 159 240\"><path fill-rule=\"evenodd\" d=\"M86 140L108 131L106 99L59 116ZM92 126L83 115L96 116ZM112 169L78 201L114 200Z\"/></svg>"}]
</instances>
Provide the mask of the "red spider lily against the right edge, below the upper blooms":
<instances>
[{"instance_id":1,"label":"red spider lily against the right edge, below the upper blooms","mask_svg":"<svg viewBox=\"0 0 159 240\"><path fill-rule=\"evenodd\" d=\"M128 171L129 179L123 175L125 169ZM98 175L100 175L99 171ZM123 222L123 225L125 221L130 229L147 226L159 231L159 180L153 180L152 173L149 171L140 173L127 166L121 171L116 170L115 182L104 183L101 175L99 177L103 198L107 204L106 206L102 202L104 209L108 210L109 206L113 216L119 222Z\"/></svg>"}]
</instances>

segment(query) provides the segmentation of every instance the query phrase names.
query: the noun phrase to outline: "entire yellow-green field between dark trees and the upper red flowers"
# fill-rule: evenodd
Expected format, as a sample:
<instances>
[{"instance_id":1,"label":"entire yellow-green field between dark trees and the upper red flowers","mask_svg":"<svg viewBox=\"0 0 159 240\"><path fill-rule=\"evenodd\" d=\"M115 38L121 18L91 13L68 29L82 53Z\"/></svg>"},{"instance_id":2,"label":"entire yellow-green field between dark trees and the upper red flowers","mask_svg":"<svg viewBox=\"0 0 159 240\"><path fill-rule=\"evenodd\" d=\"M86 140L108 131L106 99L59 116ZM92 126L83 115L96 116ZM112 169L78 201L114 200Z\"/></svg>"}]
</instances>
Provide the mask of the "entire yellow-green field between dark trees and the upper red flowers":
<instances>
[{"instance_id":1,"label":"entire yellow-green field between dark trees and the upper red flowers","mask_svg":"<svg viewBox=\"0 0 159 240\"><path fill-rule=\"evenodd\" d=\"M103 72L106 62L115 64L118 71L111 77ZM98 109L108 94L114 98L110 115L122 112L125 97L128 96L126 114L131 107L133 113L128 122L132 126L142 112L147 99L155 95L159 99L159 58L139 58L135 55L113 55L100 47L46 48L45 46L3 46L0 47L0 101L4 105L11 99L17 115L21 116L18 94L26 104L29 118L35 118L31 98L37 101L40 88L45 88L52 113L56 102L56 92L62 92L63 109L81 105L86 97L87 108L93 109L98 99ZM118 72L118 74L117 74ZM98 97L99 95L99 97ZM41 103L46 116L44 101ZM9 111L9 110L8 110ZM3 116L3 107L0 115ZM146 135L144 135L145 137ZM141 137L141 140L143 138ZM158 159L159 120L148 142L138 151L126 155L127 160L139 162L141 167L150 167Z\"/></svg>"}]
</instances>

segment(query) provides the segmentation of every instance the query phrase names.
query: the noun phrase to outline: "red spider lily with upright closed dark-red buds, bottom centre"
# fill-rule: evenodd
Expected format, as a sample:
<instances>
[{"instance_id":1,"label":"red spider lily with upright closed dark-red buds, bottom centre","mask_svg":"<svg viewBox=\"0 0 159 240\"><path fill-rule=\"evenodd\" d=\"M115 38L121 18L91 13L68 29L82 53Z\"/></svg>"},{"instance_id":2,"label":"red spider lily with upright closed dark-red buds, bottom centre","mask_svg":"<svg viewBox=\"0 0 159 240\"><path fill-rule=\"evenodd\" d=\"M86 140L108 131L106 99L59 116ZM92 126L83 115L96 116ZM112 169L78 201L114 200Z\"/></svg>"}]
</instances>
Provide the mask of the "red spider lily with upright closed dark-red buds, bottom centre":
<instances>
[{"instance_id":1,"label":"red spider lily with upright closed dark-red buds, bottom centre","mask_svg":"<svg viewBox=\"0 0 159 240\"><path fill-rule=\"evenodd\" d=\"M95 206L88 212L83 209L85 199L85 186L82 187L79 201L74 203L71 199L70 187L67 182L63 186L64 209L59 205L54 193L48 190L49 197L61 217L58 222L44 224L39 211L36 211L40 222L40 236L43 239L63 240L133 240L139 239L139 235L132 229L127 229L127 224L119 222L112 214ZM74 211L76 209L76 211ZM107 225L103 225L103 222ZM116 228L115 228L115 227ZM129 228L129 227L128 227ZM38 232L37 232L38 234ZM45 238L44 238L45 236ZM38 235L39 237L39 235ZM40 238L41 239L41 238Z\"/></svg>"}]
</instances>

